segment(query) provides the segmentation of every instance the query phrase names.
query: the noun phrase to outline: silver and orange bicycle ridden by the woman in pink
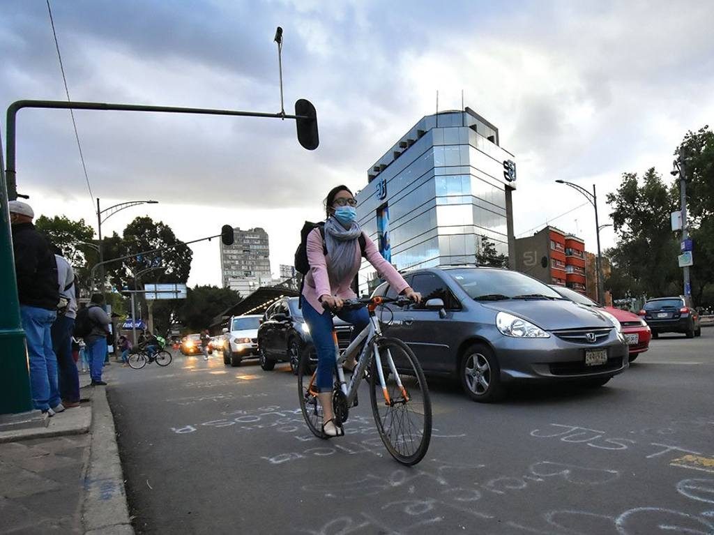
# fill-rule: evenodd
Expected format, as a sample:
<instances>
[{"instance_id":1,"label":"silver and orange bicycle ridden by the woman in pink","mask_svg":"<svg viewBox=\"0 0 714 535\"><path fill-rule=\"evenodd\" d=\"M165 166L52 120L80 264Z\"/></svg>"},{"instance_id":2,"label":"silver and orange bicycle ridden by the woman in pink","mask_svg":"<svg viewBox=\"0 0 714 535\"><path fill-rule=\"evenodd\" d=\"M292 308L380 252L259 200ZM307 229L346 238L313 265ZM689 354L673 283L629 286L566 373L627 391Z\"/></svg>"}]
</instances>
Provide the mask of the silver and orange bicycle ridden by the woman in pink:
<instances>
[{"instance_id":1,"label":"silver and orange bicycle ridden by the woman in pink","mask_svg":"<svg viewBox=\"0 0 714 535\"><path fill-rule=\"evenodd\" d=\"M383 336L377 306L394 303L404 306L410 299L373 297L343 301L344 310L367 306L370 321L363 331L340 354L337 334L335 341L335 384L332 404L335 424L341 426L349 417L349 409L357 406L357 390L362 379L370 384L372 414L378 434L387 451L401 464L417 464L426 455L431 440L431 399L424 373L413 352L401 340ZM363 344L364 343L364 344ZM349 382L342 368L344 361L358 359ZM320 439L328 438L322 432L322 407L317 399L316 371L306 352L298 363L298 395L300 408L310 431ZM306 378L310 377L309 381ZM416 423L415 423L416 420Z\"/></svg>"}]
</instances>

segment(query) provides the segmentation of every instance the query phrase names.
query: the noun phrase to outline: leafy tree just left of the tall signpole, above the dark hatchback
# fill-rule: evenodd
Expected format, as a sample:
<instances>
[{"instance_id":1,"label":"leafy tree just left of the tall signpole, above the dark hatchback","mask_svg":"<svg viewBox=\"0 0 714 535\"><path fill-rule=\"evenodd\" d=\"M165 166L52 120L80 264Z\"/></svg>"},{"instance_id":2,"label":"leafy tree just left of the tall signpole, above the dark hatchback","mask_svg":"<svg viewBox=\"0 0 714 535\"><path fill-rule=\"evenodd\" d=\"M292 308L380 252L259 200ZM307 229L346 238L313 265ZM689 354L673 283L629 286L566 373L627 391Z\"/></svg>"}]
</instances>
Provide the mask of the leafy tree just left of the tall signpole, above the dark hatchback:
<instances>
[{"instance_id":1,"label":"leafy tree just left of the tall signpole, above the dark hatchback","mask_svg":"<svg viewBox=\"0 0 714 535\"><path fill-rule=\"evenodd\" d=\"M668 186L654 168L641 181L636 173L624 173L614 194L608 194L613 208L610 217L618 234L616 246L609 251L614 275L610 286L615 294L628 291L631 296L663 296L673 291L680 275L677 264L679 244L670 229L670 213L675 210L678 191ZM628 287L622 286L627 283Z\"/></svg>"}]
</instances>

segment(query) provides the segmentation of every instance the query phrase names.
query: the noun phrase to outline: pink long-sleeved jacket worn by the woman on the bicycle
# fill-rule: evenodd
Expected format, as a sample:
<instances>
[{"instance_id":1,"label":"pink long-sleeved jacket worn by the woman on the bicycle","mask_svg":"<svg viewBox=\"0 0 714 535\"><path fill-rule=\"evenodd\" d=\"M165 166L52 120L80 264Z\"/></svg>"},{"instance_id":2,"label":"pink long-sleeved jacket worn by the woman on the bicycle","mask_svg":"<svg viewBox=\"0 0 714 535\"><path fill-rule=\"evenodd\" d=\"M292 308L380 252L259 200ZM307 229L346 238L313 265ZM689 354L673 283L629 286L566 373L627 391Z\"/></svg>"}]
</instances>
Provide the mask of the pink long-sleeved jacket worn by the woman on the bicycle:
<instances>
[{"instance_id":1,"label":"pink long-sleeved jacket worn by the woman on the bicycle","mask_svg":"<svg viewBox=\"0 0 714 535\"><path fill-rule=\"evenodd\" d=\"M362 233L364 234L364 233ZM377 249L374 242L369 239L369 236L364 234L366 238L365 246L365 256L370 264L374 266L377 273L388 281L391 286L394 286L397 293L400 293L406 289L409 285L406 284L403 276L394 269L392 264L389 264ZM324 254L322 249L322 236L318 229L314 229L310 234L308 234L307 241L307 253L308 262L310 263L310 271L305 276L305 285L303 287L303 296L307 299L308 303L318 311L322 313L324 309L319 301L319 298L323 295L336 296L340 299L353 299L356 297L355 293L350 288L352 279L359 271L362 257L360 256L359 241L355 240L355 247L357 249L357 254L355 255L355 265L351 274L346 277L343 281L340 281L337 287L330 287L330 278L327 274L328 265L330 264L330 255Z\"/></svg>"}]
</instances>

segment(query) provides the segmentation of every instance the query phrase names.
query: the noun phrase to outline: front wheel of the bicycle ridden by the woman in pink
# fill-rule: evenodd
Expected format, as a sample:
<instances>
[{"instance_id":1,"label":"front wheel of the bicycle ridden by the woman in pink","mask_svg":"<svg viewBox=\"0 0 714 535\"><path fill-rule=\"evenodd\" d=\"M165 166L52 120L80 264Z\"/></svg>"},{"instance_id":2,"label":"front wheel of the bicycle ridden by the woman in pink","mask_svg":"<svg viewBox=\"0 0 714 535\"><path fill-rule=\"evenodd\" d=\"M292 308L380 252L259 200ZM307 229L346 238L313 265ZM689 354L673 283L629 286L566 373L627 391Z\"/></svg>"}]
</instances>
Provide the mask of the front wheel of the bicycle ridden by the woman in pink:
<instances>
[{"instance_id":1,"label":"front wheel of the bicycle ridden by the woman in pink","mask_svg":"<svg viewBox=\"0 0 714 535\"><path fill-rule=\"evenodd\" d=\"M376 349L386 388L382 388L373 358L370 398L374 421L389 454L411 466L423 459L431 441L431 398L424 372L401 340L380 338Z\"/></svg>"}]
</instances>

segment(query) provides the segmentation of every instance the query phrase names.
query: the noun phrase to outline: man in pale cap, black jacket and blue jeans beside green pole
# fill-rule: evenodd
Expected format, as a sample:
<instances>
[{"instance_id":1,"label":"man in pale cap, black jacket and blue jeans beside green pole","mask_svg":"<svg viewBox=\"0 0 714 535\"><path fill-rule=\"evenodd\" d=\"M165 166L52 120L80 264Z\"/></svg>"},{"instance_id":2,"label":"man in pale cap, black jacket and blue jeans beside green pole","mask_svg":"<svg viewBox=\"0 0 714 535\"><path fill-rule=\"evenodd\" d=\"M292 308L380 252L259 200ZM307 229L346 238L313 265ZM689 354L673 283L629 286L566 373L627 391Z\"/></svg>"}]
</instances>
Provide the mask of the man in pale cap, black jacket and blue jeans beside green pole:
<instances>
[{"instance_id":1,"label":"man in pale cap, black jacket and blue jeans beside green pole","mask_svg":"<svg viewBox=\"0 0 714 535\"><path fill-rule=\"evenodd\" d=\"M31 206L22 201L10 201L8 205L20 317L30 360L32 404L54 416L64 411L51 337L59 304L57 262L46 238L32 224L35 214Z\"/></svg>"}]
</instances>

